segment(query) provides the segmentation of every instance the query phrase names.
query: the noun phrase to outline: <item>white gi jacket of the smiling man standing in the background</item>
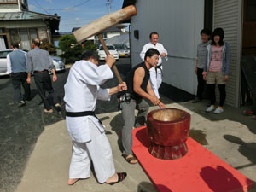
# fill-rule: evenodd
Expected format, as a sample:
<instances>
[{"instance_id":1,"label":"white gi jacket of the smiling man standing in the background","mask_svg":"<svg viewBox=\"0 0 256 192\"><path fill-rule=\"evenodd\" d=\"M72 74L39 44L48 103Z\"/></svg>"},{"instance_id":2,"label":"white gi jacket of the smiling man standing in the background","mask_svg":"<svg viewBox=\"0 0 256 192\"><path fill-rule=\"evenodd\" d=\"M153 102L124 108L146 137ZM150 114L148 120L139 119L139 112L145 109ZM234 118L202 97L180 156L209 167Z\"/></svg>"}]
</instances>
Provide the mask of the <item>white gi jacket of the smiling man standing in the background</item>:
<instances>
[{"instance_id":1,"label":"white gi jacket of the smiling man standing in the background","mask_svg":"<svg viewBox=\"0 0 256 192\"><path fill-rule=\"evenodd\" d=\"M149 42L148 44L145 44L143 46L143 50L140 53L140 56L141 56L143 61L144 61L144 57L145 57L145 54L146 54L147 50L150 49L150 48L157 49L159 51L160 55L162 53L166 53L166 55L167 55L167 50L164 48L164 45L162 45L160 43L157 43L157 44L154 45L151 42ZM162 58L161 58L161 56L159 56L159 61L158 61L157 65L160 66L161 63L162 63ZM163 69L162 66L160 68ZM155 72L154 67L150 68L149 71ZM157 69L157 71L158 71L158 73L160 73L160 69Z\"/></svg>"}]
</instances>

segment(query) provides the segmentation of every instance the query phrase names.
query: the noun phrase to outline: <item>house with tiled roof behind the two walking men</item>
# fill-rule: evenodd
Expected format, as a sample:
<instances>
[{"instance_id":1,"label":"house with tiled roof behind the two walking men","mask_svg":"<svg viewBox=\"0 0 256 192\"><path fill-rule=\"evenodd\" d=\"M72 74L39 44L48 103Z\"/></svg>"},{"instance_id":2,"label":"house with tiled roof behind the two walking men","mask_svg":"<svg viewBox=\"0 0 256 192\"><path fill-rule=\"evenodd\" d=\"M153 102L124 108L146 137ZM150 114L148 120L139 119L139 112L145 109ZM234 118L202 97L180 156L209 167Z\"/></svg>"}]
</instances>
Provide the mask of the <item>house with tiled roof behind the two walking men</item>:
<instances>
[{"instance_id":1,"label":"house with tiled roof behind the two walking men","mask_svg":"<svg viewBox=\"0 0 256 192\"><path fill-rule=\"evenodd\" d=\"M32 38L48 39L58 30L60 17L28 10L26 0L0 0L0 49L9 49L14 41L30 50Z\"/></svg>"}]
</instances>

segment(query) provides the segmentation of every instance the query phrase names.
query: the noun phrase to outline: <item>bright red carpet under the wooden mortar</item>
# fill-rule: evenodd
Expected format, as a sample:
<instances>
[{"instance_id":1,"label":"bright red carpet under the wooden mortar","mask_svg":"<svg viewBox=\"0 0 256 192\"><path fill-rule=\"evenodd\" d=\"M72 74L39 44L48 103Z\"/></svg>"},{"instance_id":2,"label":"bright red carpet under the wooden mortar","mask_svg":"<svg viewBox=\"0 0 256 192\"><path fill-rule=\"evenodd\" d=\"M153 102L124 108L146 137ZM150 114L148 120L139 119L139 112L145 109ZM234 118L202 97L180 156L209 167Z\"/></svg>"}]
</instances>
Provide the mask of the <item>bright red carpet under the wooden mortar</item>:
<instances>
[{"instance_id":1,"label":"bright red carpet under the wooden mortar","mask_svg":"<svg viewBox=\"0 0 256 192\"><path fill-rule=\"evenodd\" d=\"M188 154L160 160L148 152L146 127L133 130L133 147L144 171L160 192L247 192L253 182L189 137Z\"/></svg>"}]
</instances>

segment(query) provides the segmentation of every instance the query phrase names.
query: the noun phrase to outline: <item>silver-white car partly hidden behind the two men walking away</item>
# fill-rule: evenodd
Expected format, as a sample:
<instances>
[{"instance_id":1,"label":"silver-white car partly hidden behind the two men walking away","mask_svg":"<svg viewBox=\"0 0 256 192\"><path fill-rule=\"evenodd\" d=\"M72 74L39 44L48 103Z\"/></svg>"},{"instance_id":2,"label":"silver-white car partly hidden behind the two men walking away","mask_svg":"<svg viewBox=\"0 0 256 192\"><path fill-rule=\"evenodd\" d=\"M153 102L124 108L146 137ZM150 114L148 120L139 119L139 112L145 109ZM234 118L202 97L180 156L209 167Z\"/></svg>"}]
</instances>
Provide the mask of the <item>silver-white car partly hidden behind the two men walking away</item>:
<instances>
[{"instance_id":1,"label":"silver-white car partly hidden behind the two men walking away","mask_svg":"<svg viewBox=\"0 0 256 192\"><path fill-rule=\"evenodd\" d=\"M8 75L8 73L6 73L7 71L6 57L12 51L13 49L0 50L0 76ZM27 52L26 50L24 51ZM53 61L53 64L55 65L56 72L61 72L65 70L65 63L61 60L60 57L52 56L52 61ZM49 70L49 73L51 73L50 70Z\"/></svg>"}]
</instances>

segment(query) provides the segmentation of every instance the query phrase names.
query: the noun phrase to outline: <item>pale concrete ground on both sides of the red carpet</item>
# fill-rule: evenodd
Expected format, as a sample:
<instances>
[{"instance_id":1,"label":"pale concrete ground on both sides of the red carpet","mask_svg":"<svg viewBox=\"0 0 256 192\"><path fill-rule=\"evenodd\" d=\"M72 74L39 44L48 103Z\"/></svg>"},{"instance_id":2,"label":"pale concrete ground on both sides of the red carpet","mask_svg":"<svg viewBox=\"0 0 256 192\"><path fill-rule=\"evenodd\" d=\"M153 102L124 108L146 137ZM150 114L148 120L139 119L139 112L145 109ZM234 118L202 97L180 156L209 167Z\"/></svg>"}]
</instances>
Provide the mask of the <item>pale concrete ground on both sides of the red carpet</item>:
<instances>
[{"instance_id":1,"label":"pale concrete ground on both sides of the red carpet","mask_svg":"<svg viewBox=\"0 0 256 192\"><path fill-rule=\"evenodd\" d=\"M189 112L192 116L190 129L195 135L195 140L204 143L212 153L256 181L256 121L242 116L241 110L231 107L226 107L221 115L207 114L204 113L205 106L205 102L167 105L170 108L181 108ZM154 108L156 107L150 109ZM38 137L21 182L15 191L156 191L139 164L129 165L121 157L118 143L123 120L120 112L102 113L98 117L106 125L116 170L128 172L124 182L108 186L96 183L96 178L91 175L90 179L67 186L72 143L67 135L65 120L61 120L46 126Z\"/></svg>"}]
</instances>

